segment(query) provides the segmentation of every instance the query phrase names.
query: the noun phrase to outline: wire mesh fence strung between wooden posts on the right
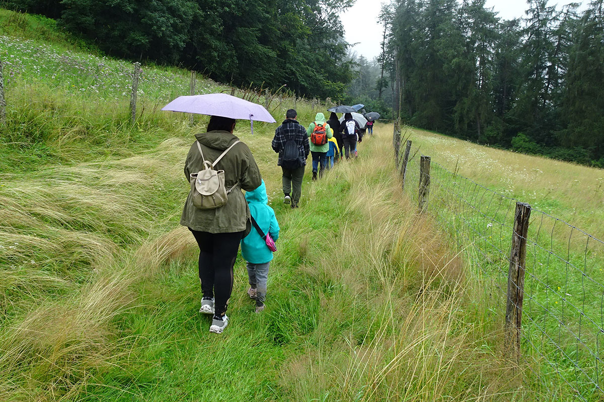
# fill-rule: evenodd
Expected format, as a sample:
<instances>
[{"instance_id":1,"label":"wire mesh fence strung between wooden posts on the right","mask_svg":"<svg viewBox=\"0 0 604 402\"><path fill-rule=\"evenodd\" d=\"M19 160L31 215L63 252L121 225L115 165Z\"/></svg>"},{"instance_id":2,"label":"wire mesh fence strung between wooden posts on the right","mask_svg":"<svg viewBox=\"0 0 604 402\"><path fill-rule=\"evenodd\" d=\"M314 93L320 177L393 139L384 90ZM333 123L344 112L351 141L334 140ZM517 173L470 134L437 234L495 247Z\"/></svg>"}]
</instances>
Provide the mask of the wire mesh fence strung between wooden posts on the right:
<instances>
[{"instance_id":1,"label":"wire mesh fence strung between wooden posts on the right","mask_svg":"<svg viewBox=\"0 0 604 402\"><path fill-rule=\"evenodd\" d=\"M403 169L406 143L401 135L401 128L395 127L393 143L401 149L397 169L404 171L403 190L419 203L422 154L412 146ZM524 284L511 280L515 210L521 200L434 160L429 176L425 211L432 212L460 247L475 251L478 277L493 289L493 319L506 312L510 292L522 292L524 303L522 298L514 302L521 313L520 356L544 394L552 400L604 400L604 242L527 206L528 231L520 236L525 245Z\"/></svg>"}]
</instances>

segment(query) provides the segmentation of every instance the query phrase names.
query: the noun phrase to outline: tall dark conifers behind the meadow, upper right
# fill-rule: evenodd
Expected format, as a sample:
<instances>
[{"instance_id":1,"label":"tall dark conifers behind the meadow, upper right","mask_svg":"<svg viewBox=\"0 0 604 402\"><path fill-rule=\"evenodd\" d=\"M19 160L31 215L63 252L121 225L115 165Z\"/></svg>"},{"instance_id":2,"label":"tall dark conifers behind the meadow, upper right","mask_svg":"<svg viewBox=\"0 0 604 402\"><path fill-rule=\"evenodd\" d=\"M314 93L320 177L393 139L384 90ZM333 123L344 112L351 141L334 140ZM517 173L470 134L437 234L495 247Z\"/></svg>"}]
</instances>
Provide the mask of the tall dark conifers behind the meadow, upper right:
<instances>
[{"instance_id":1,"label":"tall dark conifers behind the meadow, upper right","mask_svg":"<svg viewBox=\"0 0 604 402\"><path fill-rule=\"evenodd\" d=\"M485 0L393 0L380 57L411 125L604 168L604 0L529 0L503 20ZM387 83L378 83L378 86Z\"/></svg>"}]
</instances>

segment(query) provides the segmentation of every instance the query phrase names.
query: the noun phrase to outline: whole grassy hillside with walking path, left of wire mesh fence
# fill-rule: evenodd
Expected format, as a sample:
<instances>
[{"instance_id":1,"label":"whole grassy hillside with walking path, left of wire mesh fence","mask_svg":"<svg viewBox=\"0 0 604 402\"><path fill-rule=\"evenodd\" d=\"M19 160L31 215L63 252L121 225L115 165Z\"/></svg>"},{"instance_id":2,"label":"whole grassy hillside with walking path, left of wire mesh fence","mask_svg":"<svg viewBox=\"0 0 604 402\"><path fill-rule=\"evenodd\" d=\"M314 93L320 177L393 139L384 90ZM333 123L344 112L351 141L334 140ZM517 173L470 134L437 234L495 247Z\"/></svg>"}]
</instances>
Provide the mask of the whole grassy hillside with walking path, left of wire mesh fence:
<instances>
[{"instance_id":1,"label":"whole grassy hillside with walking path, left of wire mesh fence","mask_svg":"<svg viewBox=\"0 0 604 402\"><path fill-rule=\"evenodd\" d=\"M0 400L573 398L556 373L504 355L503 310L482 260L438 216L416 214L395 172L391 125L376 125L358 160L316 183L307 169L300 209L290 210L270 148L276 126L255 124L252 135L238 122L281 234L266 310L254 313L239 257L231 324L210 334L197 247L178 224L182 165L207 118L191 126L159 111L188 94L188 72L144 65L131 125L132 64L48 20L0 11L0 29ZM222 90L198 80L197 93ZM277 121L291 103L271 105ZM308 124L324 107L297 109Z\"/></svg>"}]
</instances>

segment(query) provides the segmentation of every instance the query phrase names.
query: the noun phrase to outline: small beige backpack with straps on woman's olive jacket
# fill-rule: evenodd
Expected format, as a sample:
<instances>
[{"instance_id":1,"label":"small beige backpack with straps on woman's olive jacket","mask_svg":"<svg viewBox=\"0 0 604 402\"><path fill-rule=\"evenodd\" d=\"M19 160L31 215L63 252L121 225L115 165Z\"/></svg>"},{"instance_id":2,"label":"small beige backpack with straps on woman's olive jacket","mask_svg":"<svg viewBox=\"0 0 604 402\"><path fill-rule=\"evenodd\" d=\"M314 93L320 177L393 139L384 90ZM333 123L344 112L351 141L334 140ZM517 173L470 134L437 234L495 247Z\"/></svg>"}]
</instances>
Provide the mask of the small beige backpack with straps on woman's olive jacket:
<instances>
[{"instance_id":1,"label":"small beige backpack with straps on woman's olive jacket","mask_svg":"<svg viewBox=\"0 0 604 402\"><path fill-rule=\"evenodd\" d=\"M204 169L197 172L191 173L191 195L193 195L193 205L199 209L215 209L222 207L226 204L226 196L228 196L235 187L239 185L239 181L234 184L233 187L226 190L225 187L225 171L215 171L214 165L216 165L226 152L230 151L238 141L235 141L231 146L225 149L214 162L208 162L204 158L204 152L201 150L199 141L196 141L197 148L201 154L201 159L204 161Z\"/></svg>"}]
</instances>

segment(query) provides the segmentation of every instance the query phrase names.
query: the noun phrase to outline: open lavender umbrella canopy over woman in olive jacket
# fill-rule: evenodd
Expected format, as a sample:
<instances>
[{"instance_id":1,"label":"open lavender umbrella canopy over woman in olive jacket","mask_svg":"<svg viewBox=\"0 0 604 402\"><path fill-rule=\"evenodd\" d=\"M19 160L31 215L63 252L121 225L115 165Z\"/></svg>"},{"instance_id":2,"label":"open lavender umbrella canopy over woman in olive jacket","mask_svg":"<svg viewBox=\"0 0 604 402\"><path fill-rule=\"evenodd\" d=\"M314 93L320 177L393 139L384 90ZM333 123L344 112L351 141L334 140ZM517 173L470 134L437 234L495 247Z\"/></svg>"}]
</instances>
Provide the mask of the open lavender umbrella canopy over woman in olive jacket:
<instances>
[{"instance_id":1,"label":"open lavender umbrella canopy over woman in olive jacket","mask_svg":"<svg viewBox=\"0 0 604 402\"><path fill-rule=\"evenodd\" d=\"M226 93L179 96L161 110L276 123L271 113L262 105L245 101L237 96L226 95Z\"/></svg>"}]
</instances>

